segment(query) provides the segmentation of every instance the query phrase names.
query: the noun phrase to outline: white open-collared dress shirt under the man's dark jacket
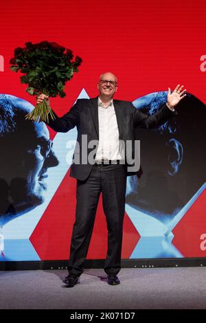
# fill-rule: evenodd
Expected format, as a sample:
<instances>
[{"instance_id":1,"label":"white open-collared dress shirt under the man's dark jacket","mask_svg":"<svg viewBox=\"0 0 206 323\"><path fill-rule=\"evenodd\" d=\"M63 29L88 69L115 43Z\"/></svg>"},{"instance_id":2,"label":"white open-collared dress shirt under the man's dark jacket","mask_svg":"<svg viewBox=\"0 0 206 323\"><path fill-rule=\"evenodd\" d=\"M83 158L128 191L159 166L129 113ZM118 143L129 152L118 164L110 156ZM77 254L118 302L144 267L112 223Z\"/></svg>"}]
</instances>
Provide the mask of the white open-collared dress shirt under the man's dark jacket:
<instances>
[{"instance_id":1,"label":"white open-collared dress shirt under the man's dark jacket","mask_svg":"<svg viewBox=\"0 0 206 323\"><path fill-rule=\"evenodd\" d=\"M98 98L99 146L95 156L101 159L122 159L119 152L119 129L113 100L106 107Z\"/></svg>"}]
</instances>

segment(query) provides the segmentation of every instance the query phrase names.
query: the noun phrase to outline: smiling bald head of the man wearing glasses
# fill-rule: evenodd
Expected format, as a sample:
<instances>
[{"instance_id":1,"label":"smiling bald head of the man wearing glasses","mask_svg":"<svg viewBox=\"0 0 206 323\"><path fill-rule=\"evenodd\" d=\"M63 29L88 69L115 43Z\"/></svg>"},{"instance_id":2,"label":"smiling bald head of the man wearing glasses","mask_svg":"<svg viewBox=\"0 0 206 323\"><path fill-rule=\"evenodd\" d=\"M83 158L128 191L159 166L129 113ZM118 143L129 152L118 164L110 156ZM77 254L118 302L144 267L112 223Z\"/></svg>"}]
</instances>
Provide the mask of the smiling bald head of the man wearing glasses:
<instances>
[{"instance_id":1,"label":"smiling bald head of the man wearing glasses","mask_svg":"<svg viewBox=\"0 0 206 323\"><path fill-rule=\"evenodd\" d=\"M98 91L101 100L111 100L117 91L117 77L108 72L100 76Z\"/></svg>"}]
</instances>

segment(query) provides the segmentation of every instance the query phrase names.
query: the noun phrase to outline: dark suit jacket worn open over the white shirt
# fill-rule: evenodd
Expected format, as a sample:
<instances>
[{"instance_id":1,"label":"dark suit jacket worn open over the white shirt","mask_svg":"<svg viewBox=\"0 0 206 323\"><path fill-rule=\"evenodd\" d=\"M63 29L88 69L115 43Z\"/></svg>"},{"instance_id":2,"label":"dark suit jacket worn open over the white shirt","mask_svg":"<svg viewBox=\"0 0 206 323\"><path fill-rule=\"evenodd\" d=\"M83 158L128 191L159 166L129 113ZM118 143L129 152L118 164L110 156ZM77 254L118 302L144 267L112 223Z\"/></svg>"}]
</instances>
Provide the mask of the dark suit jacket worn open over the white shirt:
<instances>
[{"instance_id":1,"label":"dark suit jacket worn open over the white shirt","mask_svg":"<svg viewBox=\"0 0 206 323\"><path fill-rule=\"evenodd\" d=\"M161 124L164 124L168 119L174 116L166 104L159 109L153 115L146 115L137 110L131 102L113 100L115 107L115 113L117 118L117 125L119 129L119 140L130 140L133 143L133 153L134 157L134 142L135 142L135 127L144 129L155 129ZM53 111L54 112L54 111ZM58 118L56 113L54 113L56 119L52 120L49 118L49 123L47 123L54 131L67 132L73 127L78 129L77 142L79 143L80 151L75 149L74 151L74 162L71 165L71 177L76 179L84 180L89 177L91 172L92 164L83 164L81 159L82 153L82 135L87 135L87 142L91 140L99 140L99 122L98 122L98 98L91 99L78 99L76 104L67 112L62 118ZM87 155L91 151L97 151L98 146L95 150L93 148L87 149ZM75 159L78 159L78 154L80 154L80 164L75 163ZM127 158L125 157L125 160ZM126 167L132 166L126 161ZM138 177L141 175L141 168L139 171L128 172L127 175L135 175Z\"/></svg>"}]
</instances>

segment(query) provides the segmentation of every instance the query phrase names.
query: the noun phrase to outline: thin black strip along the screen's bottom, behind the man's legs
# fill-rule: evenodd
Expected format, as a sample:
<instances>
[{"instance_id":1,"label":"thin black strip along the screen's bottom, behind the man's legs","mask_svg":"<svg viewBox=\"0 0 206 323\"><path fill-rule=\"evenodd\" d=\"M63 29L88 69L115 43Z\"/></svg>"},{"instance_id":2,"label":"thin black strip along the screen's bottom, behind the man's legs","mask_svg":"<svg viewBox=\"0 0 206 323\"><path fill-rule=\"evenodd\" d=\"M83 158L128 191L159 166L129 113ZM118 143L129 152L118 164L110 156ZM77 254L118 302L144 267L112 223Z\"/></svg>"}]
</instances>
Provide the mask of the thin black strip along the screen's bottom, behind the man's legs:
<instances>
[{"instance_id":1,"label":"thin black strip along the screen's bottom, behind the man's legs","mask_svg":"<svg viewBox=\"0 0 206 323\"><path fill-rule=\"evenodd\" d=\"M68 260L2 261L0 270L67 269ZM122 259L122 268L205 267L206 258ZM104 260L87 260L85 269L104 268Z\"/></svg>"}]
</instances>

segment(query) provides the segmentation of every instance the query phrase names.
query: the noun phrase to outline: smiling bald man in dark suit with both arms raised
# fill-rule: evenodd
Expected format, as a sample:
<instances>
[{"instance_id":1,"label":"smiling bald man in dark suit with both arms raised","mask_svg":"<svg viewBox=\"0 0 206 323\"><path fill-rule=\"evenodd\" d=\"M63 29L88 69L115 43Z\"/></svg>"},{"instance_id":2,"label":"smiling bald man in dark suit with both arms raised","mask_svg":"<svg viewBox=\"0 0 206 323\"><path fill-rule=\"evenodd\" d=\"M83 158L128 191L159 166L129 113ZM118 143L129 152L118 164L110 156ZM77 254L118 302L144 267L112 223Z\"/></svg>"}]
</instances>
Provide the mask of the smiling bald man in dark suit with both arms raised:
<instances>
[{"instance_id":1,"label":"smiling bald man in dark suit with both arms raised","mask_svg":"<svg viewBox=\"0 0 206 323\"><path fill-rule=\"evenodd\" d=\"M126 177L139 176L139 169L133 164L134 129L154 129L164 124L175 115L174 107L185 97L186 90L183 90L183 85L177 85L172 94L168 89L167 102L150 116L135 109L131 102L113 100L117 91L117 77L110 72L100 76L98 91L98 98L79 99L62 118L54 113L56 119L50 118L48 122L54 131L67 132L75 126L78 129L71 166L71 177L77 179L76 221L71 238L69 275L63 280L67 287L76 285L84 270L100 192L108 228L104 271L109 285L120 283L117 274L121 269ZM48 100L48 97L41 94L37 103L43 100ZM86 154L83 147L85 135L88 142ZM95 150L89 145L93 141L97 142Z\"/></svg>"}]
</instances>

